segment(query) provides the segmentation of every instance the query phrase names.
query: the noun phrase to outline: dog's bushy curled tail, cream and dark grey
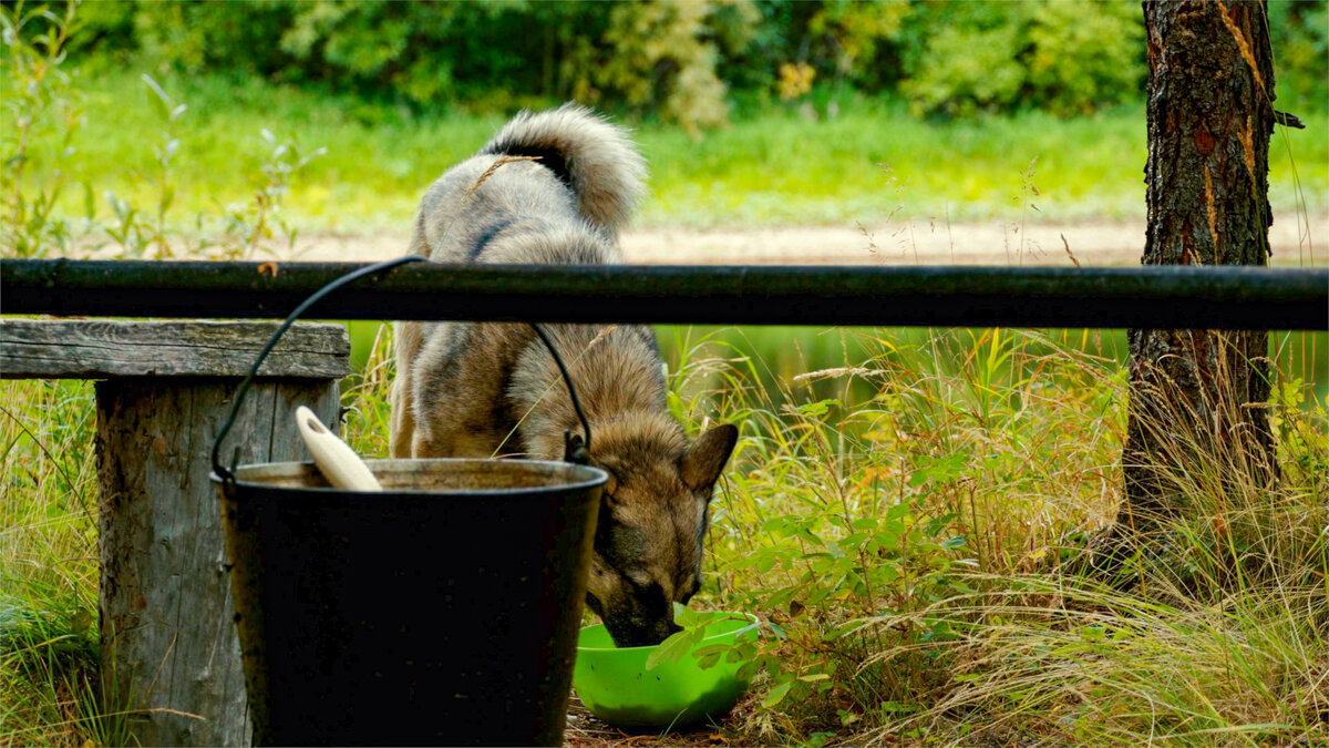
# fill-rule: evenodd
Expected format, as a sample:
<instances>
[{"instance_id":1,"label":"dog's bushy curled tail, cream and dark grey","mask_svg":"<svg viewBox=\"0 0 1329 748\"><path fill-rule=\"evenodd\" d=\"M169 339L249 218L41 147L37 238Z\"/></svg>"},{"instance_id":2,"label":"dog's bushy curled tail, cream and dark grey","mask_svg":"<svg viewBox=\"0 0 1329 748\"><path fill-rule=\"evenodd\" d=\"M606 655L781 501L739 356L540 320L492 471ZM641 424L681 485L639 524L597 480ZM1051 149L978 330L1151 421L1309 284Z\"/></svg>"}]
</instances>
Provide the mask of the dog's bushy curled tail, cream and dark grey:
<instances>
[{"instance_id":1,"label":"dog's bushy curled tail, cream and dark grey","mask_svg":"<svg viewBox=\"0 0 1329 748\"><path fill-rule=\"evenodd\" d=\"M571 188L582 214L611 230L627 222L646 178L627 132L577 104L517 114L480 153L540 158Z\"/></svg>"}]
</instances>

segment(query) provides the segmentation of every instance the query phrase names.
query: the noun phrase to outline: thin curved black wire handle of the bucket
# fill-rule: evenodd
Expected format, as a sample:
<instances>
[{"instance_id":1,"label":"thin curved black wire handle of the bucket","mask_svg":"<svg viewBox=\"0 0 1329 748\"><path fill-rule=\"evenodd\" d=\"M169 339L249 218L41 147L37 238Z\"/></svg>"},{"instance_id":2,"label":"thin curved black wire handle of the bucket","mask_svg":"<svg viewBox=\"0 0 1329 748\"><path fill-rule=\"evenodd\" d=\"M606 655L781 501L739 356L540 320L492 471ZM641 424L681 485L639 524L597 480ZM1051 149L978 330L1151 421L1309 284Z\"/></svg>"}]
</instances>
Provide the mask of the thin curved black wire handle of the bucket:
<instances>
[{"instance_id":1,"label":"thin curved black wire handle of the bucket","mask_svg":"<svg viewBox=\"0 0 1329 748\"><path fill-rule=\"evenodd\" d=\"M235 402L231 405L231 411L226 417L226 423L222 425L221 431L217 433L217 438L213 439L213 454L211 454L213 472L215 472L217 476L221 478L226 486L234 486L235 483L235 465L239 462L241 449L239 446L235 447L235 455L231 459L231 467L227 468L222 466L221 461L222 442L226 439L226 435L230 434L231 427L235 426L235 419L239 417L241 406L245 403L245 395L249 394L250 386L253 386L254 383L254 378L258 377L259 367L263 366L263 361L266 361L267 355L272 353L274 347L276 347L276 343L278 341L282 339L282 335L284 335L286 331L291 329L291 325L294 325L295 321L299 319L300 315L304 314L311 306L322 301L323 297L328 295L330 293L335 291L336 289L350 282L364 278L365 276L372 276L375 273L389 270L399 265L405 265L408 262L427 262L427 261L428 261L427 257L420 257L417 254L408 254L405 257L396 257L393 260L387 260L383 262L376 262L373 265L359 268L356 270L347 273L346 276L342 276L340 278L334 280L322 289L314 291L312 294L310 294L307 299L300 302L300 305L296 306L290 315L287 315L286 321L282 322L280 326L278 326L276 331L272 333L272 337L268 338L267 343L259 351L258 358L254 361L254 366L251 366L249 370L249 374L246 374L245 378L241 381L239 387L235 390ZM567 395L571 398L573 410L577 411L577 419L581 421L582 429L585 430L586 434L585 438L574 435L570 431L566 431L563 434L565 439L563 461L575 465L586 465L590 462L590 422L586 421L586 414L582 413L581 402L577 399L577 390L573 389L573 379L571 377L567 375L567 367L563 366L563 359L558 355L558 350L554 347L554 343L550 342L549 337L545 334L545 330L534 322L528 322L528 325L530 325L530 327L536 331L536 335L540 337L540 341L545 343L545 347L549 349L549 355L552 355L554 358L554 363L558 365L558 371L563 377L563 383L567 385Z\"/></svg>"}]
</instances>

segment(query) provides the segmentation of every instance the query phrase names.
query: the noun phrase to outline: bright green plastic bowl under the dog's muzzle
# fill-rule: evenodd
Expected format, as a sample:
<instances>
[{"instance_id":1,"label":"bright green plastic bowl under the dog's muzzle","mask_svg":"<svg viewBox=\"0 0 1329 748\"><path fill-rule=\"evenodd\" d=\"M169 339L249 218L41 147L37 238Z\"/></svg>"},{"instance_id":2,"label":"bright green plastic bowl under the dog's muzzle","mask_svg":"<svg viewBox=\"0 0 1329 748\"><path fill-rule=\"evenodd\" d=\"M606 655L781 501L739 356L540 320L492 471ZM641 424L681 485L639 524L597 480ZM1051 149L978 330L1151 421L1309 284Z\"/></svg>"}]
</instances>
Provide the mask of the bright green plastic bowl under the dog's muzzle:
<instances>
[{"instance_id":1,"label":"bright green plastic bowl under the dog's muzzle","mask_svg":"<svg viewBox=\"0 0 1329 748\"><path fill-rule=\"evenodd\" d=\"M716 611L698 647L756 638L756 616ZM682 728L734 708L747 689L739 680L742 661L722 656L702 669L691 652L646 669L655 647L618 650L603 626L581 630L573 685L593 715L615 727Z\"/></svg>"}]
</instances>

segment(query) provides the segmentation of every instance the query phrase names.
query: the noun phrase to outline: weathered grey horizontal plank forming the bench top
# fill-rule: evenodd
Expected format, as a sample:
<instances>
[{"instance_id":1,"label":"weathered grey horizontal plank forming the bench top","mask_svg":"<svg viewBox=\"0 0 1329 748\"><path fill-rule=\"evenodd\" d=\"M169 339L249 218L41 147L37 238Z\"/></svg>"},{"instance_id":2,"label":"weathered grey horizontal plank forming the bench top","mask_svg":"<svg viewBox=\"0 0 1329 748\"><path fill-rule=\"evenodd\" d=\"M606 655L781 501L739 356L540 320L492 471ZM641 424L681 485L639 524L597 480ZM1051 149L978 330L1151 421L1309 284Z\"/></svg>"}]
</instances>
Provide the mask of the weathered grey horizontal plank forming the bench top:
<instances>
[{"instance_id":1,"label":"weathered grey horizontal plank forming the bench top","mask_svg":"<svg viewBox=\"0 0 1329 748\"><path fill-rule=\"evenodd\" d=\"M275 322L0 319L0 378L239 377ZM299 322L259 374L330 379L350 374L340 325Z\"/></svg>"}]
</instances>

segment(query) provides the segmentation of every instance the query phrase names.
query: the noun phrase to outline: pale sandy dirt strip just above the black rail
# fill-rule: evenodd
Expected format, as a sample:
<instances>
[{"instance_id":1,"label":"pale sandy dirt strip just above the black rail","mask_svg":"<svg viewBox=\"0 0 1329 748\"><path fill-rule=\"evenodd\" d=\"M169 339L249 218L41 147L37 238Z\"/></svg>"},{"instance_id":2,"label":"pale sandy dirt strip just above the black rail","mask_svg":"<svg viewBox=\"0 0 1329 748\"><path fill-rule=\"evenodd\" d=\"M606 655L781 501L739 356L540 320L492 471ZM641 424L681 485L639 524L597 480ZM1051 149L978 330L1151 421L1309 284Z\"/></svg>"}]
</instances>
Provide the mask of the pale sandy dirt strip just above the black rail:
<instances>
[{"instance_id":1,"label":"pale sandy dirt strip just above the black rail","mask_svg":"<svg viewBox=\"0 0 1329 748\"><path fill-rule=\"evenodd\" d=\"M1292 214L1275 216L1269 230L1273 262L1326 265L1329 248L1318 244L1326 237L1329 214L1312 216L1300 226ZM296 253L307 261L371 261L396 257L405 246L404 230L311 234L300 237ZM1073 265L1078 261L1111 266L1139 262L1144 224L1019 226L990 221L948 226L902 221L863 228L637 229L622 236L622 246L627 262L643 265Z\"/></svg>"}]
</instances>

